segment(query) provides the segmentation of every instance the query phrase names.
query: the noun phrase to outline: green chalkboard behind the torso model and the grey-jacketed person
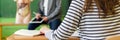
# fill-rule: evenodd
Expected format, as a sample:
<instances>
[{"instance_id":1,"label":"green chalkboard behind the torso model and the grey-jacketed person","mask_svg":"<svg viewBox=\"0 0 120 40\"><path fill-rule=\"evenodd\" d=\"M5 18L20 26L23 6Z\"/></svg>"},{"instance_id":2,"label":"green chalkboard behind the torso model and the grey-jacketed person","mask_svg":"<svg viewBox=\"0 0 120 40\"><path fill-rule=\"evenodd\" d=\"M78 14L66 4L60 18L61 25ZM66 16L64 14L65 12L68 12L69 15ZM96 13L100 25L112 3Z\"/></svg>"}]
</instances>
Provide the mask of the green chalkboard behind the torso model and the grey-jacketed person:
<instances>
[{"instance_id":1,"label":"green chalkboard behind the torso model and the grey-jacketed person","mask_svg":"<svg viewBox=\"0 0 120 40\"><path fill-rule=\"evenodd\" d=\"M38 2L40 0L33 0L31 2L31 12L37 11L38 10ZM63 16L66 14L67 9L68 9L68 1L69 0L62 0L62 14ZM31 13L33 14L33 13ZM16 15L16 2L13 0L0 0L0 17L15 17ZM34 15L32 15L34 16Z\"/></svg>"}]
</instances>

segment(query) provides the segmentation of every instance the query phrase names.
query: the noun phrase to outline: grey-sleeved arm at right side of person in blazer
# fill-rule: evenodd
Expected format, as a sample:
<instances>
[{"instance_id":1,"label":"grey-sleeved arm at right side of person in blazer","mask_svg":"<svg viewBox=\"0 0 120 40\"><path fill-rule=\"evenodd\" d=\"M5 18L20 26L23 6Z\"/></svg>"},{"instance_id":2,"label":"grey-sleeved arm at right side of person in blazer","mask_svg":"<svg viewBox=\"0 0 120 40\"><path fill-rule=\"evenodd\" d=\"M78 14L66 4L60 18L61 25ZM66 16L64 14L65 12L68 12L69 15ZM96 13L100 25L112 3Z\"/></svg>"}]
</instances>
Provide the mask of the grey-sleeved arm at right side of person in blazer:
<instances>
[{"instance_id":1,"label":"grey-sleeved arm at right side of person in blazer","mask_svg":"<svg viewBox=\"0 0 120 40\"><path fill-rule=\"evenodd\" d=\"M56 8L49 16L47 16L48 20L52 19L53 17L59 15L61 9L61 0L56 0Z\"/></svg>"}]
</instances>

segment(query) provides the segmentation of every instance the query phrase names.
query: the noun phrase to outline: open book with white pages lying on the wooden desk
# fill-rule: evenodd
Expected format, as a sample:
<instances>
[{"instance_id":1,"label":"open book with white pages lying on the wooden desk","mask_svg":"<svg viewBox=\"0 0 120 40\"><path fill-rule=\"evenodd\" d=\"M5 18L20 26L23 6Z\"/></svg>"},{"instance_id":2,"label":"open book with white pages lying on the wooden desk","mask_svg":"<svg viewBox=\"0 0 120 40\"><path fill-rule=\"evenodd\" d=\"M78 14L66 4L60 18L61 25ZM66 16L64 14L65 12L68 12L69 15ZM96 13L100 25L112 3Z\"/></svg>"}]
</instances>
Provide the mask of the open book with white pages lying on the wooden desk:
<instances>
[{"instance_id":1,"label":"open book with white pages lying on the wooden desk","mask_svg":"<svg viewBox=\"0 0 120 40\"><path fill-rule=\"evenodd\" d=\"M14 34L21 35L21 36L37 36L37 35L40 35L40 31L20 29L20 30L16 31Z\"/></svg>"}]
</instances>

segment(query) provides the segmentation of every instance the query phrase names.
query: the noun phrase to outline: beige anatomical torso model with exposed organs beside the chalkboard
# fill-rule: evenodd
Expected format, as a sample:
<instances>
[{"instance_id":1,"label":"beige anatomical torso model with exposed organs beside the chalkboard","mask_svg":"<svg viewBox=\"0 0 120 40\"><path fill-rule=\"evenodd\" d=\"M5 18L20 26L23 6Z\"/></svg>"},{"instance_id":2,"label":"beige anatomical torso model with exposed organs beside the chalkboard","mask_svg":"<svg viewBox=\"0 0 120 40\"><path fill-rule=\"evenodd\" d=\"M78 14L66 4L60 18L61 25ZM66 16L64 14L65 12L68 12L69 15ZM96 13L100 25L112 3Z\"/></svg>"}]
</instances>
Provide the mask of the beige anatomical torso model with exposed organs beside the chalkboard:
<instances>
[{"instance_id":1,"label":"beige anatomical torso model with exposed organs beside the chalkboard","mask_svg":"<svg viewBox=\"0 0 120 40\"><path fill-rule=\"evenodd\" d=\"M31 19L30 4L33 0L14 0L17 4L16 24L28 24Z\"/></svg>"}]
</instances>

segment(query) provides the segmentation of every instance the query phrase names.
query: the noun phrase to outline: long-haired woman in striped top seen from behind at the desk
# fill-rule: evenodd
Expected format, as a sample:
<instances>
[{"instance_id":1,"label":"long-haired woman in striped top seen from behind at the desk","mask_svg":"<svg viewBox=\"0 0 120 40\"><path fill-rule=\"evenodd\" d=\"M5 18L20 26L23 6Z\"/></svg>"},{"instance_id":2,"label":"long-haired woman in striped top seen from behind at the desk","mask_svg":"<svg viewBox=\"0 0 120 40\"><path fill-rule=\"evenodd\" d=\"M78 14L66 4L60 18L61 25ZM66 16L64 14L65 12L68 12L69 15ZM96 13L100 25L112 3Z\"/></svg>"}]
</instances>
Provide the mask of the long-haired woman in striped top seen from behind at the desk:
<instances>
[{"instance_id":1,"label":"long-haired woman in striped top seen from behind at the desk","mask_svg":"<svg viewBox=\"0 0 120 40\"><path fill-rule=\"evenodd\" d=\"M58 29L41 32L50 40L65 40L77 28L80 40L105 40L120 35L119 0L72 0Z\"/></svg>"}]
</instances>

